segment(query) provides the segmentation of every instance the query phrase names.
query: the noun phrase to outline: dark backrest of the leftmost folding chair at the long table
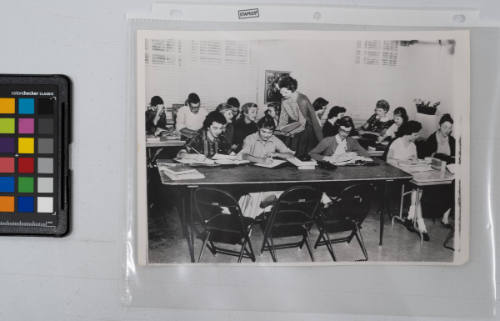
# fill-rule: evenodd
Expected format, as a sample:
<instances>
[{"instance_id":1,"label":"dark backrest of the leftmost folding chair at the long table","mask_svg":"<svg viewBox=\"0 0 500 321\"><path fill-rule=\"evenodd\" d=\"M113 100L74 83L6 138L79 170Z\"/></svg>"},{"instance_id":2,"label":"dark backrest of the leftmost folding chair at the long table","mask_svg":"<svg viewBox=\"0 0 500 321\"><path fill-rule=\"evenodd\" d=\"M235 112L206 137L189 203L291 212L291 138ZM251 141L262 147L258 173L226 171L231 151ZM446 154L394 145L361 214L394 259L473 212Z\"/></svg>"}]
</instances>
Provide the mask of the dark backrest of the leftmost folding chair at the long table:
<instances>
[{"instance_id":1,"label":"dark backrest of the leftmost folding chair at the long table","mask_svg":"<svg viewBox=\"0 0 500 321\"><path fill-rule=\"evenodd\" d=\"M194 204L202 224L206 224L218 215L235 215L239 218L242 231L245 230L238 201L228 192L216 188L198 188L194 193ZM224 213L225 209L229 213Z\"/></svg>"}]
</instances>

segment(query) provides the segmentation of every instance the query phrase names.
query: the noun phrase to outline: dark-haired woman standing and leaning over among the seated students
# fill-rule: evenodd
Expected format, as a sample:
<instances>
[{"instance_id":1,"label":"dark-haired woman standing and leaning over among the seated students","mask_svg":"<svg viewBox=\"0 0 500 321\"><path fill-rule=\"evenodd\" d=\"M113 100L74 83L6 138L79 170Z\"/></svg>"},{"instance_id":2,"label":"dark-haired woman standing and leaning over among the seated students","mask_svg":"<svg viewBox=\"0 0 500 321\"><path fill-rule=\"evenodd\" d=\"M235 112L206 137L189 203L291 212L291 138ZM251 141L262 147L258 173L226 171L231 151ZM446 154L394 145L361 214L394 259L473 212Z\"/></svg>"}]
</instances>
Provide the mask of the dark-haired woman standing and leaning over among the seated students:
<instances>
[{"instance_id":1,"label":"dark-haired woman standing and leaning over among the seated students","mask_svg":"<svg viewBox=\"0 0 500 321\"><path fill-rule=\"evenodd\" d=\"M283 97L278 130L286 135L285 143L301 158L323 139L321 125L306 95L297 91L297 80L281 77L277 86Z\"/></svg>"}]
</instances>

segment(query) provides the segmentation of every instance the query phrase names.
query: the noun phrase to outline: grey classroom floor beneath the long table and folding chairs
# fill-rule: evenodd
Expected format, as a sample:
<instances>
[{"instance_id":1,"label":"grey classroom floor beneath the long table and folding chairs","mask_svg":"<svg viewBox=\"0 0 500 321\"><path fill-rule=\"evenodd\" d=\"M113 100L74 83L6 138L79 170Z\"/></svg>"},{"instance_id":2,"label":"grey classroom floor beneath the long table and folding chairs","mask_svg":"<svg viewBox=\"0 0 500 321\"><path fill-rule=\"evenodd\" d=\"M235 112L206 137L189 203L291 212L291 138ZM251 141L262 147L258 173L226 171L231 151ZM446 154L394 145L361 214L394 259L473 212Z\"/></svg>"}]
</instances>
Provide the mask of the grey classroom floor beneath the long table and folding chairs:
<instances>
[{"instance_id":1,"label":"grey classroom floor beneath the long table and folding chairs","mask_svg":"<svg viewBox=\"0 0 500 321\"><path fill-rule=\"evenodd\" d=\"M396 198L396 197L395 197ZM392 202L397 204L396 202ZM416 233L409 232L399 223L391 224L388 216L384 225L384 244L379 246L379 215L374 210L376 205L363 222L362 234L368 252L369 261L384 262L452 262L453 251L443 247L449 229L445 228L439 219L435 221L426 219L425 223L429 232L430 241L421 242ZM398 208L393 206L391 213L397 213ZM179 216L175 208L160 210L154 206L150 209L149 216L149 260L150 263L189 263L187 242L182 234ZM318 236L315 227L311 230L310 241L313 243ZM259 227L252 231L251 242L256 254L257 263L272 263L269 252L259 253L262 245L263 233ZM195 240L195 256L198 257L202 241ZM452 244L452 242L451 242ZM350 244L340 243L333 245L337 261L353 262L363 258L363 253L355 239ZM235 248L236 249L236 248ZM316 262L332 262L326 248L321 246L313 249ZM283 249L277 251L280 263L284 262L311 262L305 247L299 249ZM236 263L237 258L224 254L212 255L207 249L204 251L201 262L203 263ZM244 259L244 263L252 263Z\"/></svg>"}]
</instances>

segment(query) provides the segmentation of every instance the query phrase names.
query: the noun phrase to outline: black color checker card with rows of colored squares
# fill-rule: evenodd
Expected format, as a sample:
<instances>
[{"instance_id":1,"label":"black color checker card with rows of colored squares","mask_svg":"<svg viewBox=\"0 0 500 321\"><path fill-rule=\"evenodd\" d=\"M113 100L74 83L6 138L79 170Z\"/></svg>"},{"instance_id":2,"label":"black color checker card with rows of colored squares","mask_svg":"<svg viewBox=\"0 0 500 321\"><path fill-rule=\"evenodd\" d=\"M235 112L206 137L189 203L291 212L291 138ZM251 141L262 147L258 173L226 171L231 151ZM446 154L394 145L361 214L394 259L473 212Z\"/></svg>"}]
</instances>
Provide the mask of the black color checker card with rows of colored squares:
<instances>
[{"instance_id":1,"label":"black color checker card with rows of colored squares","mask_svg":"<svg viewBox=\"0 0 500 321\"><path fill-rule=\"evenodd\" d=\"M70 81L0 75L0 234L69 231Z\"/></svg>"}]
</instances>

